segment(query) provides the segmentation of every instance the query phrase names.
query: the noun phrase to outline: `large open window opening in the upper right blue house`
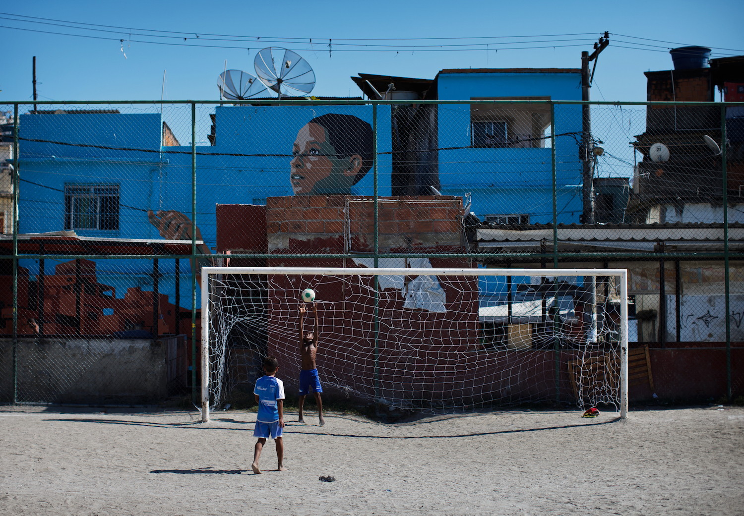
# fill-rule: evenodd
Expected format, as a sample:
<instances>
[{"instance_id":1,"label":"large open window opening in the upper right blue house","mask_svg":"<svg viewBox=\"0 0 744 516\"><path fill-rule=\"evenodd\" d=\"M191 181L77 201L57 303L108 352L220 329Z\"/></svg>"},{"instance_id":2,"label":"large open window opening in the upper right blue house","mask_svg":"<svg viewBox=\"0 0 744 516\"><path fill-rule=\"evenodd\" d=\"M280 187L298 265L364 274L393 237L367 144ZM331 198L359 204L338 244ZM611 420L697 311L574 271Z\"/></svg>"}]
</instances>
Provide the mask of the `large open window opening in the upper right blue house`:
<instances>
[{"instance_id":1,"label":"large open window opening in the upper right blue house","mask_svg":"<svg viewBox=\"0 0 744 516\"><path fill-rule=\"evenodd\" d=\"M551 97L470 97L470 100L551 100ZM545 129L550 126L548 103L470 106L470 145L474 147L545 147Z\"/></svg>"}]
</instances>

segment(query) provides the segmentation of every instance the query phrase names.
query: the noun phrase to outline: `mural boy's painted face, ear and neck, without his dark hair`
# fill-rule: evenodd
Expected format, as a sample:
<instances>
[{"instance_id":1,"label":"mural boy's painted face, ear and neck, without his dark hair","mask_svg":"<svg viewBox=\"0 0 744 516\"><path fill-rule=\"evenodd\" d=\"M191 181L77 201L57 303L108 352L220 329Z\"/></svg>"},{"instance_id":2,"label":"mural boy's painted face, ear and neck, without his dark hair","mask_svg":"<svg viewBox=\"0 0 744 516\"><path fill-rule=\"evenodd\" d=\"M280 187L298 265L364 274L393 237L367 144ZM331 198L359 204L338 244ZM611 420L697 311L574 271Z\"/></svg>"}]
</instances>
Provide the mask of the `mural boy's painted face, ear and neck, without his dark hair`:
<instances>
[{"instance_id":1,"label":"mural boy's painted face, ear and neck, without his dark hair","mask_svg":"<svg viewBox=\"0 0 744 516\"><path fill-rule=\"evenodd\" d=\"M292 146L289 180L295 195L351 193L356 175L362 170L362 156L337 155L328 133L318 123L307 123Z\"/></svg>"}]
</instances>

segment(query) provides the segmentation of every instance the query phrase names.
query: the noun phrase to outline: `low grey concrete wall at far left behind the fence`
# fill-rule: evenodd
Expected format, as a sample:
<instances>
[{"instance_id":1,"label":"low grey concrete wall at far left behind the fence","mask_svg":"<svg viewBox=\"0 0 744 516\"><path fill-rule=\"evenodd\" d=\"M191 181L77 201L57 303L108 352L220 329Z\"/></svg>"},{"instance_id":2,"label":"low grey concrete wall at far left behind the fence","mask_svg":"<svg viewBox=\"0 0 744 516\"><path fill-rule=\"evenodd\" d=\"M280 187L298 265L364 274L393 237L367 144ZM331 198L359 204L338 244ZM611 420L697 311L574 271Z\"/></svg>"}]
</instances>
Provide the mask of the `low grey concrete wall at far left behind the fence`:
<instances>
[{"instance_id":1,"label":"low grey concrete wall at far left behind the fence","mask_svg":"<svg viewBox=\"0 0 744 516\"><path fill-rule=\"evenodd\" d=\"M142 339L20 338L18 401L157 403L166 397L166 349ZM0 340L0 401L13 399L13 341Z\"/></svg>"}]
</instances>

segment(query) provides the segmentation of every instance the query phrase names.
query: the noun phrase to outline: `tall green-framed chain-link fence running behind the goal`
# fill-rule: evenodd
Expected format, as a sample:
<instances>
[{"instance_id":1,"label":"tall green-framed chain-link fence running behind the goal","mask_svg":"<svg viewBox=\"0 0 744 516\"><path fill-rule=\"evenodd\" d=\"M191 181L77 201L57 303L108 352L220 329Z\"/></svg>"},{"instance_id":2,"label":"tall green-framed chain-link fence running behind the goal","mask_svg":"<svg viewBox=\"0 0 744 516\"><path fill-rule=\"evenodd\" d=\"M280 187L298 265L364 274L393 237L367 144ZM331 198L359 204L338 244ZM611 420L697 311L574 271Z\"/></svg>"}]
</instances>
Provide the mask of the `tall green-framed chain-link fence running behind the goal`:
<instances>
[{"instance_id":1,"label":"tall green-framed chain-link fence running behind the goal","mask_svg":"<svg viewBox=\"0 0 744 516\"><path fill-rule=\"evenodd\" d=\"M202 266L381 260L626 268L631 400L744 393L742 103L37 104L0 106L0 401L196 399ZM479 352L617 345L611 281L533 280L478 282Z\"/></svg>"}]
</instances>

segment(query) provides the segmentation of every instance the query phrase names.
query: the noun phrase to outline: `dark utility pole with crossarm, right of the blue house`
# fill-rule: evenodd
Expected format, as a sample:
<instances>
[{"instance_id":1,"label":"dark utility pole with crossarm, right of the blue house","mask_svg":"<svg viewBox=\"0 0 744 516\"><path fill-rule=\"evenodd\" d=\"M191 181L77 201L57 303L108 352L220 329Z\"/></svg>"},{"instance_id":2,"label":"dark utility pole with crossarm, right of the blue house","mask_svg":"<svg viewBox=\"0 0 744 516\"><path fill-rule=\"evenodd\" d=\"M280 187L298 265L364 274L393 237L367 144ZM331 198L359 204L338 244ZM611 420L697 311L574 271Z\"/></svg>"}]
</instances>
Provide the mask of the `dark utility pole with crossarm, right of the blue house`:
<instances>
[{"instance_id":1,"label":"dark utility pole with crossarm, right of the blue house","mask_svg":"<svg viewBox=\"0 0 744 516\"><path fill-rule=\"evenodd\" d=\"M594 70L597 68L597 57L599 57L601 51L607 48L607 45L609 45L609 32L605 32L604 37L601 37L598 42L594 43L594 52L591 53L591 56L586 51L581 53L581 100L589 100L589 88L591 88L591 80L594 79ZM590 77L589 62L591 61L594 61L594 68L591 69ZM580 157L583 162L583 215L580 222L583 224L594 224L594 152L592 151L594 144L591 141L591 114L589 112L589 104L583 104L581 106L581 115L582 137Z\"/></svg>"}]
</instances>

